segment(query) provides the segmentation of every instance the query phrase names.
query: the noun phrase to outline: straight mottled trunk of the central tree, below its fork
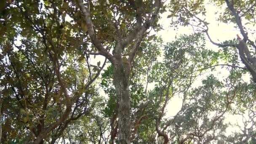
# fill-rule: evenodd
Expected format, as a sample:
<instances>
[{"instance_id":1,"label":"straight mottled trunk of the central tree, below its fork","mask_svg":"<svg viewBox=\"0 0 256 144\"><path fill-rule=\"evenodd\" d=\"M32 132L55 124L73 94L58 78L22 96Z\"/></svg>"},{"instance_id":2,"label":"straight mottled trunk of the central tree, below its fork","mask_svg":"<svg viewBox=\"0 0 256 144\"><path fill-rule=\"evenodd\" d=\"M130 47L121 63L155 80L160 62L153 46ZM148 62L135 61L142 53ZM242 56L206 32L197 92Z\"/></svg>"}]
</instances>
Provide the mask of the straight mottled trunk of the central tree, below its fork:
<instances>
[{"instance_id":1,"label":"straight mottled trunk of the central tree, below its fork","mask_svg":"<svg viewBox=\"0 0 256 144\"><path fill-rule=\"evenodd\" d=\"M118 136L120 144L130 144L130 95L129 95L130 67L122 61L114 64L114 85L118 99Z\"/></svg>"}]
</instances>

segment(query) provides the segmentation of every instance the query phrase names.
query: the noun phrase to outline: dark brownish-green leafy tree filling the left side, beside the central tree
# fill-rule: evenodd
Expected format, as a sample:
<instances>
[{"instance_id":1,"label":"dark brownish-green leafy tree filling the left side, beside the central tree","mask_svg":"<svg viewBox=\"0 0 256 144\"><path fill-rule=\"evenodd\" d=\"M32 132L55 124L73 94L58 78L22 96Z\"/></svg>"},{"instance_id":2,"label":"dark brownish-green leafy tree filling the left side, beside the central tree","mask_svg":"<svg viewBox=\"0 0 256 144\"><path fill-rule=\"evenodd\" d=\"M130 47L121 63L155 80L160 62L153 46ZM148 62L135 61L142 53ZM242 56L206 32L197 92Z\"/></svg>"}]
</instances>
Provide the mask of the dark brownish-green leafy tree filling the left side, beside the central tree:
<instances>
[{"instance_id":1,"label":"dark brownish-green leafy tree filling the left side, beside the central tree","mask_svg":"<svg viewBox=\"0 0 256 144\"><path fill-rule=\"evenodd\" d=\"M16 141L35 138L35 144L43 143L57 127L60 136L72 120L89 111L90 99L95 96L92 83L106 61L91 70L88 55L82 49L87 47L85 35L79 33L81 28L65 20L65 5L60 1L13 1L2 13L1 87L7 101L3 117L8 124L5 130L15 125L25 128L20 132L5 131ZM17 119L8 121L12 117ZM30 133L23 135L27 131ZM18 133L22 133L21 139ZM54 143L53 139L54 136Z\"/></svg>"}]
</instances>

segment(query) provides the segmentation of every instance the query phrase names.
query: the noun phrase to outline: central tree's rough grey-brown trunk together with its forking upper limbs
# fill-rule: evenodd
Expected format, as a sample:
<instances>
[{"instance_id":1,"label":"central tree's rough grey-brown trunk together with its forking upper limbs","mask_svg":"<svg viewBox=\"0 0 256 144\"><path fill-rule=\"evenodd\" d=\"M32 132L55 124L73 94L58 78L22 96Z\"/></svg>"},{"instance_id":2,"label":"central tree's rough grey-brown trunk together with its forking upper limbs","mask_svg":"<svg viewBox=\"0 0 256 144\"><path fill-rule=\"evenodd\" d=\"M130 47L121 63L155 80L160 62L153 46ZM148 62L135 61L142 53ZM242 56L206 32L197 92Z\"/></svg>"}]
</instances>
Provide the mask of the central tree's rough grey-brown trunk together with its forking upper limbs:
<instances>
[{"instance_id":1,"label":"central tree's rough grey-brown trunk together with its forking upper limbs","mask_svg":"<svg viewBox=\"0 0 256 144\"><path fill-rule=\"evenodd\" d=\"M154 23L159 10L161 8L161 0L155 0L152 2L152 13L147 16L144 24L142 24L141 13L143 12L143 1L136 1L136 24L135 28L127 35L127 37L119 37L117 45L113 50L113 55L110 54L106 48L101 44L101 40L96 37L95 31L93 30L93 24L89 11L85 8L83 0L76 0L77 6L83 13L83 20L86 22L91 41L93 45L99 51L99 54L105 56L114 66L114 85L115 91L118 98L118 135L120 144L130 144L129 138L131 135L131 122L130 122L130 95L129 95L129 74L131 71L131 64L136 56L139 45L144 33ZM133 0L130 0L131 4L135 4ZM117 27L116 27L117 28ZM117 33L119 29L117 28ZM119 35L120 36L120 35ZM128 59L122 57L123 49L131 44L134 40L131 52L128 54Z\"/></svg>"}]
</instances>

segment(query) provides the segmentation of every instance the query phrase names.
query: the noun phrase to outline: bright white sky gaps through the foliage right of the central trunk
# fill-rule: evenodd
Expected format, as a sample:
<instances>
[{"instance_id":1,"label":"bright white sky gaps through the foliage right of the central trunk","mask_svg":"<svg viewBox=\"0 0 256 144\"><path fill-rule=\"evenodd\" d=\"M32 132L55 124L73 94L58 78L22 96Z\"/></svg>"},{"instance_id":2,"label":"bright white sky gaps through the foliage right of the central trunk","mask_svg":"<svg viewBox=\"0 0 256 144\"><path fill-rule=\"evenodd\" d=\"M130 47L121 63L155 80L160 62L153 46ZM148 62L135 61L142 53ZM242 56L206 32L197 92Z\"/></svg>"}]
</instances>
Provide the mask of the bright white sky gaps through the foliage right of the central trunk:
<instances>
[{"instance_id":1,"label":"bright white sky gaps through the foliage right of the central trunk","mask_svg":"<svg viewBox=\"0 0 256 144\"><path fill-rule=\"evenodd\" d=\"M240 35L240 31L238 29L236 29L234 26L235 24L223 24L221 22L216 21L217 19L217 15L214 14L214 12L216 12L216 7L213 5L209 5L209 4L205 4L207 13L206 13L206 20L208 23L210 23L208 25L209 27L209 35L211 36L211 39L216 42L216 43L220 43L223 42L224 40L232 40L233 38L236 38L236 35ZM219 10L219 9L218 9ZM163 38L164 42L170 42L172 40L175 40L175 36L179 36L182 34L192 34L193 30L192 27L179 27L178 31L177 30L173 30L172 27L169 27L170 24L170 20L167 19L167 16L170 13L166 12L163 14L162 19L160 20L160 24L163 25L164 30L161 30L160 32L157 33L157 35L161 36ZM201 19L204 19L203 16L199 16ZM246 21L242 20L242 23L246 23ZM247 28L253 28L253 26L251 25L246 25ZM248 36L251 38L256 37L256 35L251 35L250 32L248 32ZM213 45L207 38L206 38L206 47L208 47L209 49L212 49L214 51L218 51L219 48L216 45ZM219 41L218 41L219 40ZM221 74L217 74L218 72L221 72ZM217 77L219 79L221 79L221 77L227 77L227 75L229 74L227 71L225 72L223 69L221 69L221 67L218 67L216 69L216 72L213 73L214 75L217 75ZM202 77L203 78L203 77ZM250 80L250 75L245 75L243 76L243 79L245 81L249 81ZM195 85L200 85L201 80L197 80L197 82L195 83ZM181 108L181 104L182 104L182 100L181 98L179 98L179 96L174 96L171 101L168 103L167 107L166 107L166 118L167 117L171 117L176 115L176 113L180 110ZM225 120L226 123L232 123L232 124L236 124L238 123L239 125L243 126L242 123L242 117L238 116L238 115L226 115L228 118ZM227 128L227 134L231 134L234 131L240 131L238 129L238 127L235 128Z\"/></svg>"}]
</instances>

